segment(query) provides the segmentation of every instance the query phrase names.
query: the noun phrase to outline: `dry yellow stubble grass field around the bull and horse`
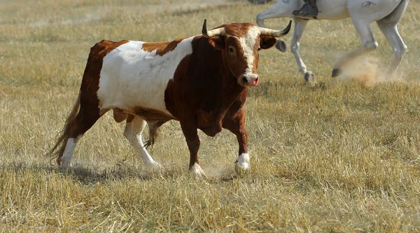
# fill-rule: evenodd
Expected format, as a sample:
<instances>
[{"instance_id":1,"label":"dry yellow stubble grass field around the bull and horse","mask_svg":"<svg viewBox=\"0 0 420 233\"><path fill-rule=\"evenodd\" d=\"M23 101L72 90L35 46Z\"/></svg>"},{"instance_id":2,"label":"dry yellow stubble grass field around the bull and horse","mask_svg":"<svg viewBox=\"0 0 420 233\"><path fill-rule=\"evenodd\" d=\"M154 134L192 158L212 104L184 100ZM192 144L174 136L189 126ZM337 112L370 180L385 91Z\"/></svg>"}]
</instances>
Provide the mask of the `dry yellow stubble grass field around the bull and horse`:
<instances>
[{"instance_id":1,"label":"dry yellow stubble grass field around the bull and horse","mask_svg":"<svg viewBox=\"0 0 420 233\"><path fill-rule=\"evenodd\" d=\"M207 4L206 4L207 3ZM103 38L168 41L227 22L255 22L273 3L199 0L0 1L0 232L420 232L420 1L400 22L408 50L397 80L379 48L353 70L332 66L360 41L350 20L309 22L301 54L260 54L248 92L251 171L236 177L237 141L200 132L202 168L188 172L179 122L151 148L148 171L107 113L80 140L73 167L45 153L76 100L90 47ZM267 20L283 29L289 19ZM284 37L290 43L291 34ZM378 68L379 67L379 68ZM379 76L375 76L379 73ZM147 137L147 136L146 136Z\"/></svg>"}]
</instances>

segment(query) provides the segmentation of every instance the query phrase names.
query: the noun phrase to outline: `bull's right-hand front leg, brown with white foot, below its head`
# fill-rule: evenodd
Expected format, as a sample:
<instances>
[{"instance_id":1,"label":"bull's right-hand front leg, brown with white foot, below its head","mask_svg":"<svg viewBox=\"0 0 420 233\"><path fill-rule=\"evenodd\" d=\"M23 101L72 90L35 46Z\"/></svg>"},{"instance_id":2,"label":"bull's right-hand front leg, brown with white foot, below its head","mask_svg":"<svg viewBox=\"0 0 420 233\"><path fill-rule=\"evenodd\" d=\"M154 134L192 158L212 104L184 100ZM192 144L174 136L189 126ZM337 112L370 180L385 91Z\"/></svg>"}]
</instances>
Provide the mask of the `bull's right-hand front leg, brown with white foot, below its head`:
<instances>
[{"instance_id":1,"label":"bull's right-hand front leg, brown with white foot, below its head","mask_svg":"<svg viewBox=\"0 0 420 233\"><path fill-rule=\"evenodd\" d=\"M235 171L238 175L249 169L248 132L245 129L245 113L241 109L235 118L225 118L223 128L237 136L239 156L235 161Z\"/></svg>"}]
</instances>

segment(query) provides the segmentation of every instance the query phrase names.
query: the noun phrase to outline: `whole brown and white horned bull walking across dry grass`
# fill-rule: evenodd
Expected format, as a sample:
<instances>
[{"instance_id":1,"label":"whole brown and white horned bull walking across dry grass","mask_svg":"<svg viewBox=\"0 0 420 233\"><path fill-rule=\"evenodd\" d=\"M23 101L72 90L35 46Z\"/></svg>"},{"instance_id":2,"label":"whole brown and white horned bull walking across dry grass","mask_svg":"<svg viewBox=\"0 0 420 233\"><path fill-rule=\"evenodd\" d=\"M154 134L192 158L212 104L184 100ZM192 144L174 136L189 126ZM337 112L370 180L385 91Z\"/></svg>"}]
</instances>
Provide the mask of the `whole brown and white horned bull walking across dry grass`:
<instances>
[{"instance_id":1,"label":"whole brown and white horned bull walking across dry grass","mask_svg":"<svg viewBox=\"0 0 420 233\"><path fill-rule=\"evenodd\" d=\"M291 23L291 21L290 21ZM237 173L248 169L248 134L242 106L247 87L258 83L258 52L271 48L281 31L251 23L223 24L202 35L170 42L101 41L90 49L78 99L62 134L50 150L67 167L80 137L109 110L126 120L124 135L147 165L160 167L148 154L141 133L149 127L152 144L158 127L179 120L190 150L190 171L205 176L197 158L197 129L209 136L230 130L237 136Z\"/></svg>"}]
</instances>

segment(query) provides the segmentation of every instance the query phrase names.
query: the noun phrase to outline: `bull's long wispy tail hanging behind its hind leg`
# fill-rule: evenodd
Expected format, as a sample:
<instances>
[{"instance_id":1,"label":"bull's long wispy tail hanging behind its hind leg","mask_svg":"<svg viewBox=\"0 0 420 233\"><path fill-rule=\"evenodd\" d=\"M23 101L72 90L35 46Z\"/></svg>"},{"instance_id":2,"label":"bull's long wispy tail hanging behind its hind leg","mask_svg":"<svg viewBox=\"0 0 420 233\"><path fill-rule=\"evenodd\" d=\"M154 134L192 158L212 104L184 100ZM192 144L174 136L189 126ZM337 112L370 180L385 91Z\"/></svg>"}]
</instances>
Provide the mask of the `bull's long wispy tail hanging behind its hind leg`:
<instances>
[{"instance_id":1,"label":"bull's long wispy tail hanging behind its hind leg","mask_svg":"<svg viewBox=\"0 0 420 233\"><path fill-rule=\"evenodd\" d=\"M59 158L62 157L64 153L64 149L66 148L66 141L69 139L69 134L71 131L71 125L73 124L78 112L80 110L80 91L76 100L76 103L73 106L73 110L69 114L66 119L66 123L62 131L59 133L59 137L55 145L51 148L51 150L47 153L48 156L51 157L51 160L57 159L59 162Z\"/></svg>"}]
</instances>

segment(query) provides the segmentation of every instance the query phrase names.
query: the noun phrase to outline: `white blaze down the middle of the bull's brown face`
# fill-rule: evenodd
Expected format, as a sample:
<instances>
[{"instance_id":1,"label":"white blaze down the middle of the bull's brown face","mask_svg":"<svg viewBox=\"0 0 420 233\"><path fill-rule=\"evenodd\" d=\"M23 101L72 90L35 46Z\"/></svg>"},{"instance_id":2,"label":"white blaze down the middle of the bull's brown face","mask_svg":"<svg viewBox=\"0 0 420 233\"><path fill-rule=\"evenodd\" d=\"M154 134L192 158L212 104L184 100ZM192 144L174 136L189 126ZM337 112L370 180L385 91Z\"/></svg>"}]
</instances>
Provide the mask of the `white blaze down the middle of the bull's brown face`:
<instances>
[{"instance_id":1,"label":"white blaze down the middle of the bull's brown face","mask_svg":"<svg viewBox=\"0 0 420 233\"><path fill-rule=\"evenodd\" d=\"M260 36L260 29L258 27L249 27L248 32L244 37L239 37L239 43L241 44L242 49L244 50L244 57L246 58L246 63L248 64L245 75L251 75L253 70L254 57L254 48L258 36Z\"/></svg>"}]
</instances>

